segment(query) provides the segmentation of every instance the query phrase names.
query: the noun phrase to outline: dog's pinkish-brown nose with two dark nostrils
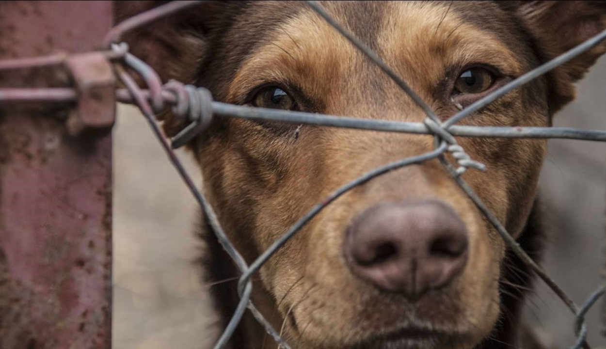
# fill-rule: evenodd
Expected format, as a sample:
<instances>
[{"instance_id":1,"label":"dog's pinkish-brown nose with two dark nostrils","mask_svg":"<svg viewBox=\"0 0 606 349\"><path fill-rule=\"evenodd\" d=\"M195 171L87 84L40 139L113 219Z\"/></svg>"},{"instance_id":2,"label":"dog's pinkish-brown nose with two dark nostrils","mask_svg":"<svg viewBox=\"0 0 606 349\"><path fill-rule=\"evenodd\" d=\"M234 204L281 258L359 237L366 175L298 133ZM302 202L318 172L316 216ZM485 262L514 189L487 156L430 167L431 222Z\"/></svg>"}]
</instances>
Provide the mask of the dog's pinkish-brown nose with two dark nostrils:
<instances>
[{"instance_id":1,"label":"dog's pinkish-brown nose with two dark nostrils","mask_svg":"<svg viewBox=\"0 0 606 349\"><path fill-rule=\"evenodd\" d=\"M354 219L345 254L355 274L414 301L461 273L467 245L465 224L450 206L439 201L390 202Z\"/></svg>"}]
</instances>

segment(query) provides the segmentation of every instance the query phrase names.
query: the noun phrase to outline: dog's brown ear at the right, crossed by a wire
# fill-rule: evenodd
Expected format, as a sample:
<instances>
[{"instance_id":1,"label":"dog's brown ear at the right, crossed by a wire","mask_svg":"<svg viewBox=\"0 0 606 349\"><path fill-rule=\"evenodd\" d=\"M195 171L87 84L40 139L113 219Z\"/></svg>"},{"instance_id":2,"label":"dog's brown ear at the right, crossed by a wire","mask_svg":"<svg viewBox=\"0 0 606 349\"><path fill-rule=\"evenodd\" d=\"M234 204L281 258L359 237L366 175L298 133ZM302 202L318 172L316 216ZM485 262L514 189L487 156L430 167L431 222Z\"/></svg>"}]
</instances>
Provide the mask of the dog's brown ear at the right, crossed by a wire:
<instances>
[{"instance_id":1,"label":"dog's brown ear at the right, crossed by a wire","mask_svg":"<svg viewBox=\"0 0 606 349\"><path fill-rule=\"evenodd\" d=\"M518 16L538 40L545 59L553 59L606 29L606 1L517 1ZM554 70L551 112L574 99L572 83L606 52L602 42Z\"/></svg>"}]
</instances>

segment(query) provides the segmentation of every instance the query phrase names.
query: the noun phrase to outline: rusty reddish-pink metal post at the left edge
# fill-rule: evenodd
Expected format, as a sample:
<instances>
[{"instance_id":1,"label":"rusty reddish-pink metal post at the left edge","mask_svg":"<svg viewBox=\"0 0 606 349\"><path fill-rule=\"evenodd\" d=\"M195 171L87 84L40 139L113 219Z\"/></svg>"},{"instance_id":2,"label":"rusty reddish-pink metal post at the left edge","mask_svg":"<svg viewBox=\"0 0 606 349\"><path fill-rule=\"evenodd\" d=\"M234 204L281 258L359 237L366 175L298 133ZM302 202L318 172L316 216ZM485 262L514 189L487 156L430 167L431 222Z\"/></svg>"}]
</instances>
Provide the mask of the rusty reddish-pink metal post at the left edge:
<instances>
[{"instance_id":1,"label":"rusty reddish-pink metal post at the left edge","mask_svg":"<svg viewBox=\"0 0 606 349\"><path fill-rule=\"evenodd\" d=\"M0 2L0 59L88 52L111 26L110 1ZM110 347L111 134L81 123L110 126L115 105L74 64L0 71L0 87L75 87L90 103L0 104L0 348Z\"/></svg>"}]
</instances>

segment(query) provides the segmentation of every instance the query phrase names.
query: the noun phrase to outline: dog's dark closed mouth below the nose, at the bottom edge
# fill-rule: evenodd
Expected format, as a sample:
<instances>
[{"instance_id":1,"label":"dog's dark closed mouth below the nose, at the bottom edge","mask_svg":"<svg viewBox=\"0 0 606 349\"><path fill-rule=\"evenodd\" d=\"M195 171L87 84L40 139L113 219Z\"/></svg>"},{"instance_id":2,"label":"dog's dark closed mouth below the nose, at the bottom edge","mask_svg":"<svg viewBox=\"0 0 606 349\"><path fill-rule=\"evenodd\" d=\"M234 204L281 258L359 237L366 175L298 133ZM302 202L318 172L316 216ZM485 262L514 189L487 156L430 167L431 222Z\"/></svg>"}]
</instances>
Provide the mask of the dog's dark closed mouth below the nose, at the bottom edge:
<instances>
[{"instance_id":1,"label":"dog's dark closed mouth below the nose, at the bottom edge","mask_svg":"<svg viewBox=\"0 0 606 349\"><path fill-rule=\"evenodd\" d=\"M463 340L462 334L413 325L370 336L351 349L442 349Z\"/></svg>"}]
</instances>

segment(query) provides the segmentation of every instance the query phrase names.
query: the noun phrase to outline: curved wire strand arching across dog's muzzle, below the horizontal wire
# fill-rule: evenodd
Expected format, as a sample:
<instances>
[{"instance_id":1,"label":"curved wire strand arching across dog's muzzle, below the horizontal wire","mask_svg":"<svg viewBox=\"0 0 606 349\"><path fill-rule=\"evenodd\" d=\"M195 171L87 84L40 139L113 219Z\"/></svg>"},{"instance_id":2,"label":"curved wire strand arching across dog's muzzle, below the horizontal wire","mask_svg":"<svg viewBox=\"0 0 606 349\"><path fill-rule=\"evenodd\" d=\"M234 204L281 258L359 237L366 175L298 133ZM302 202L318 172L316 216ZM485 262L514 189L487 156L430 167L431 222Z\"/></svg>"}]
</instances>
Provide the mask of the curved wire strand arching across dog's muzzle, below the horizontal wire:
<instances>
[{"instance_id":1,"label":"curved wire strand arching across dog's muzzle, below the horizontal wire","mask_svg":"<svg viewBox=\"0 0 606 349\"><path fill-rule=\"evenodd\" d=\"M297 221L284 235L282 235L278 240L276 240L270 247L268 247L262 254L259 256L251 265L248 270L242 274L240 281L238 282L238 290L242 291L244 285L250 280L252 274L261 268L261 266L267 262L267 260L286 242L288 239L292 238L297 231L301 230L301 228L307 224L307 222L311 221L320 211L322 211L328 204L335 201L342 194L347 193L347 191L357 187L358 185L364 184L365 182L370 181L371 179L379 176L380 174L387 173L388 171L396 170L397 168L401 168L407 165L419 164L420 162L425 162L431 159L435 159L438 156L442 155L444 151L447 151L448 144L443 142L439 145L435 150L429 151L428 153L413 156L411 158L406 158L403 160L391 162L390 164L384 165L379 168L375 168L374 170L368 171L362 176L354 179L353 181L348 182L343 185L341 188L333 191L330 195L327 196L321 203L315 205L311 210L309 210L299 221Z\"/></svg>"}]
</instances>

